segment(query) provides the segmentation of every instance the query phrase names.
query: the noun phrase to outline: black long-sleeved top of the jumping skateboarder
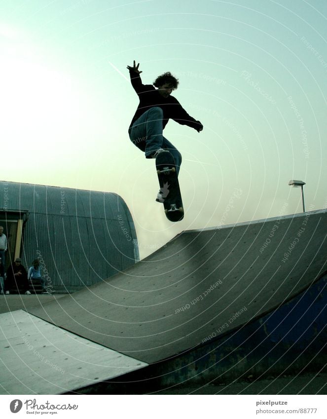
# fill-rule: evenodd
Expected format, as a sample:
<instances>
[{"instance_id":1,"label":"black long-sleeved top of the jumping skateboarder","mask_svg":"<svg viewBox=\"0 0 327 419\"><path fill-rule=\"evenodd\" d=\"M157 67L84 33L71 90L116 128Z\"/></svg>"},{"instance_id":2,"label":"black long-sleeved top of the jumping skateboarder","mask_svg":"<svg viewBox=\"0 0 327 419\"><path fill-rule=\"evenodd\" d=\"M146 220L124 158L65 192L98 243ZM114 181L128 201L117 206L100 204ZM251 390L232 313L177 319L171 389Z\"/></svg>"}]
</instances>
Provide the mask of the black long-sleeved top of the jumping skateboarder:
<instances>
[{"instance_id":1,"label":"black long-sleeved top of the jumping skateboarder","mask_svg":"<svg viewBox=\"0 0 327 419\"><path fill-rule=\"evenodd\" d=\"M130 71L130 77L132 86L139 96L140 103L133 116L129 129L145 111L154 106L158 106L163 111L162 128L165 128L168 120L171 118L181 125L188 125L196 130L199 129L201 122L196 121L192 116L187 114L180 102L174 96L169 95L168 98L164 98L152 84L142 84L140 75L133 71Z\"/></svg>"}]
</instances>

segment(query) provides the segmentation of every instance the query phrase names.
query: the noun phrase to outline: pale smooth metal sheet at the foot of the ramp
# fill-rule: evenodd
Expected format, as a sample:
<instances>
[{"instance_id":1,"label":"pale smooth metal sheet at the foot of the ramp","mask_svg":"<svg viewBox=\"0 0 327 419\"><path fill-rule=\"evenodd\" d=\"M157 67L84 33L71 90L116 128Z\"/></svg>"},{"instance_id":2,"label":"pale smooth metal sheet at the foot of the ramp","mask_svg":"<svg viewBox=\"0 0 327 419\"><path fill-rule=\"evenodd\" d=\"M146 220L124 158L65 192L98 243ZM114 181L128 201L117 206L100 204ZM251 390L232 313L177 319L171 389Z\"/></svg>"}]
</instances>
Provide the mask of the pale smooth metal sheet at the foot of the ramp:
<instances>
[{"instance_id":1,"label":"pale smooth metal sheet at the foot of the ramp","mask_svg":"<svg viewBox=\"0 0 327 419\"><path fill-rule=\"evenodd\" d=\"M0 394L61 394L146 366L25 310L0 314L0 362Z\"/></svg>"}]
</instances>

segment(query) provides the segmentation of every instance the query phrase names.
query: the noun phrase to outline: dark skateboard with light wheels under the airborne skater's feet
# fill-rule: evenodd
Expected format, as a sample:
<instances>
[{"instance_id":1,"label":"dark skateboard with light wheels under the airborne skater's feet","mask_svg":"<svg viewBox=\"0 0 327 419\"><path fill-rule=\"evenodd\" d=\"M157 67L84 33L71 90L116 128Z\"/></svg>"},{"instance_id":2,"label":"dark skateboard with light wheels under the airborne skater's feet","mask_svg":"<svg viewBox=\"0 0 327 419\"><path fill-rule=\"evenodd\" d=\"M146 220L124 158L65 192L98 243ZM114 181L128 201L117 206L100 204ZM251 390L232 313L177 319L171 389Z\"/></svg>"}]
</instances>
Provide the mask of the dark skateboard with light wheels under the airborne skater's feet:
<instances>
[{"instance_id":1,"label":"dark skateboard with light wheels under the airborne skater's feet","mask_svg":"<svg viewBox=\"0 0 327 419\"><path fill-rule=\"evenodd\" d=\"M181 221L184 210L174 157L168 151L159 153L155 159L155 167L166 217L172 222Z\"/></svg>"}]
</instances>

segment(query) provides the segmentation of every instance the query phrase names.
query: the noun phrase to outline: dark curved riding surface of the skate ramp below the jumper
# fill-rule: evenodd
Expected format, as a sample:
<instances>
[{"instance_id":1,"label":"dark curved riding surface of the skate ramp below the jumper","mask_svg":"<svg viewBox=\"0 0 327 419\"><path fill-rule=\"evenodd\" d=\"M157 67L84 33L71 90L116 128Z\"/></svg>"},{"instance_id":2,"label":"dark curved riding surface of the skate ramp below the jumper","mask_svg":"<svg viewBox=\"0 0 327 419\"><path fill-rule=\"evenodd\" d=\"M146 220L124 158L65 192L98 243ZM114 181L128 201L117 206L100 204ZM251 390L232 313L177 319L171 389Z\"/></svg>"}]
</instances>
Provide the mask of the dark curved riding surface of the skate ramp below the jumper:
<instances>
[{"instance_id":1,"label":"dark curved riding surface of the skate ramp below the jumper","mask_svg":"<svg viewBox=\"0 0 327 419\"><path fill-rule=\"evenodd\" d=\"M321 210L183 231L108 280L29 312L146 364L177 358L317 281L326 226Z\"/></svg>"}]
</instances>

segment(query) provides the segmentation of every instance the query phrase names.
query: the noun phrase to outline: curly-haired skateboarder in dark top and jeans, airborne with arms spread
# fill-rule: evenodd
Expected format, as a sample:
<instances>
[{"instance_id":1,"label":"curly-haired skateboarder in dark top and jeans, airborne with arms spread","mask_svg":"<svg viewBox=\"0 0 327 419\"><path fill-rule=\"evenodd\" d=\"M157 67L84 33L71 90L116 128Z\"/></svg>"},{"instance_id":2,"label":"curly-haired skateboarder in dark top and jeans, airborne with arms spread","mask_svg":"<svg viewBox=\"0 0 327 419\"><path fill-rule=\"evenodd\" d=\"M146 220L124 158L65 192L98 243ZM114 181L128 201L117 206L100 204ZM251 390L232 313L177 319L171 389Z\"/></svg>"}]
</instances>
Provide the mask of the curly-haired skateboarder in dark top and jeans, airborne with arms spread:
<instances>
[{"instance_id":1,"label":"curly-haired skateboarder in dark top and jeans, airborne with arms spread","mask_svg":"<svg viewBox=\"0 0 327 419\"><path fill-rule=\"evenodd\" d=\"M200 132L203 125L187 114L179 101L171 96L177 89L179 81L171 73L158 76L152 84L143 84L139 66L127 66L131 83L139 96L140 103L129 126L128 133L133 144L145 152L146 158L156 158L159 153L169 151L175 160L176 172L179 173L182 155L162 135L162 131L170 118L174 121L188 125ZM157 195L157 201L163 202L161 191Z\"/></svg>"}]
</instances>

